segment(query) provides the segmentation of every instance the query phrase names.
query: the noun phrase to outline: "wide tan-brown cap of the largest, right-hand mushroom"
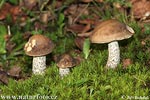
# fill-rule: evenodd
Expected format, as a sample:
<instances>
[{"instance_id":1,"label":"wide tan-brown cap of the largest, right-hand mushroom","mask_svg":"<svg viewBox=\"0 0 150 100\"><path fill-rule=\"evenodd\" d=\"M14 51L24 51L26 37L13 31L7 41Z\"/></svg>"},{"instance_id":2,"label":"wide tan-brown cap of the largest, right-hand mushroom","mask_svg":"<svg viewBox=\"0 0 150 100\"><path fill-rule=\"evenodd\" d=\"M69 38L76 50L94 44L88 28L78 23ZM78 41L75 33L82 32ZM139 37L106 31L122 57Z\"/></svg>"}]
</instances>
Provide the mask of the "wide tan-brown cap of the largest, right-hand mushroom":
<instances>
[{"instance_id":1,"label":"wide tan-brown cap of the largest, right-hand mushroom","mask_svg":"<svg viewBox=\"0 0 150 100\"><path fill-rule=\"evenodd\" d=\"M134 34L132 28L115 19L101 22L90 35L92 43L108 43L130 38Z\"/></svg>"}]
</instances>

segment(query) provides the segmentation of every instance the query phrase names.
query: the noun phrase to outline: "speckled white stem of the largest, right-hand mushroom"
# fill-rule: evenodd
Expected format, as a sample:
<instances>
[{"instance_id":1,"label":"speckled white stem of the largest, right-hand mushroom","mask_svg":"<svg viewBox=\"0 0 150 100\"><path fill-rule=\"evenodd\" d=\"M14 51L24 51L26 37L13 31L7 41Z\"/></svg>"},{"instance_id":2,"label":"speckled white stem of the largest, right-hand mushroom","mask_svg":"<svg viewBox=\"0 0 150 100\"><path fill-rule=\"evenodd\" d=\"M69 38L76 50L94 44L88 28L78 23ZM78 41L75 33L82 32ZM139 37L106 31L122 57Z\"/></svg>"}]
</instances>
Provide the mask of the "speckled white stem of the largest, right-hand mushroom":
<instances>
[{"instance_id":1,"label":"speckled white stem of the largest, right-hand mushroom","mask_svg":"<svg viewBox=\"0 0 150 100\"><path fill-rule=\"evenodd\" d=\"M120 62L120 49L117 41L110 42L108 44L108 60L106 67L116 68Z\"/></svg>"}]
</instances>

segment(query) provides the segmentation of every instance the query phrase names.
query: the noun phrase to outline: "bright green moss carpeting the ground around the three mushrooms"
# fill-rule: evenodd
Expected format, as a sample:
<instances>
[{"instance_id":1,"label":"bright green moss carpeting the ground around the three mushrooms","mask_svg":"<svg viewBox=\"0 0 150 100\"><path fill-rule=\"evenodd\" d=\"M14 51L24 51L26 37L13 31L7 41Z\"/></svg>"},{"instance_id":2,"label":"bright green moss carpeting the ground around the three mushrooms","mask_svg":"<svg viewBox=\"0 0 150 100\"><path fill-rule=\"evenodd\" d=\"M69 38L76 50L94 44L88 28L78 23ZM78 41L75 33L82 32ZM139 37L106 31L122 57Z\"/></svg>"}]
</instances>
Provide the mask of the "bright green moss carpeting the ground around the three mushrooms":
<instances>
[{"instance_id":1,"label":"bright green moss carpeting the ground around the three mushrooms","mask_svg":"<svg viewBox=\"0 0 150 100\"><path fill-rule=\"evenodd\" d=\"M108 1L114 2L113 0ZM70 4L69 1L68 4ZM99 7L99 5L96 6ZM133 64L123 69L121 62L116 70L106 70L104 67L108 57L107 44L91 44L92 51L87 60L72 68L71 73L64 79L60 78L56 63L51 61L44 76L32 75L19 81L10 78L7 86L0 84L1 96L45 95L57 96L58 100L122 100L122 98L127 99L127 97L133 99L135 96L149 96L149 40L146 40L145 46L141 45L141 40L148 36L149 28L145 26L146 32L142 34L137 22L128 19L129 16L120 13L117 15L116 9L107 9L105 12L95 11L95 13L100 14L102 19L117 18L133 27L135 30L134 36L119 42L121 60L130 58L133 60ZM64 32L64 19L62 17L61 20L60 17L61 22L55 22L60 26L59 29L57 27L50 28L49 32L43 33L56 43L54 52L48 57L74 49L74 36ZM53 27L55 23L52 25ZM12 30L15 32L16 28L12 28ZM25 26L24 31L28 30L30 30L30 27ZM16 50L14 49L14 52L12 52L14 55L8 54L1 58L6 58L3 60L4 63L9 61L9 58L13 58L11 59L12 64L21 66L25 75L29 72L31 74L32 58L25 56L24 53L19 57L15 55L20 50L23 52L24 45L24 41L20 39L23 38L22 34L18 31L13 33L14 37L12 38L12 41L17 44Z\"/></svg>"}]
</instances>

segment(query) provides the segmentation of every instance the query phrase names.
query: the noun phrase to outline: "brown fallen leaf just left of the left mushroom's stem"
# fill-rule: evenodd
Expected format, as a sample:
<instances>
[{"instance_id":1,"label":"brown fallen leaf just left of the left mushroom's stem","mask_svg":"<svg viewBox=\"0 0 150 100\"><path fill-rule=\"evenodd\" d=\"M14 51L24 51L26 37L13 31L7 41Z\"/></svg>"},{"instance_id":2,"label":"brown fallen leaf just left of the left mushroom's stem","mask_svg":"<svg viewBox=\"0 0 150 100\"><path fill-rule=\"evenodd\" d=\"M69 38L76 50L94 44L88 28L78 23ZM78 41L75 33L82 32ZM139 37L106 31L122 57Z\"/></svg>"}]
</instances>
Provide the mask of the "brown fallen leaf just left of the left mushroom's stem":
<instances>
[{"instance_id":1,"label":"brown fallen leaf just left of the left mushroom's stem","mask_svg":"<svg viewBox=\"0 0 150 100\"><path fill-rule=\"evenodd\" d=\"M19 77L20 72L21 72L21 68L18 66L14 66L7 72L7 74L12 77Z\"/></svg>"}]
</instances>

